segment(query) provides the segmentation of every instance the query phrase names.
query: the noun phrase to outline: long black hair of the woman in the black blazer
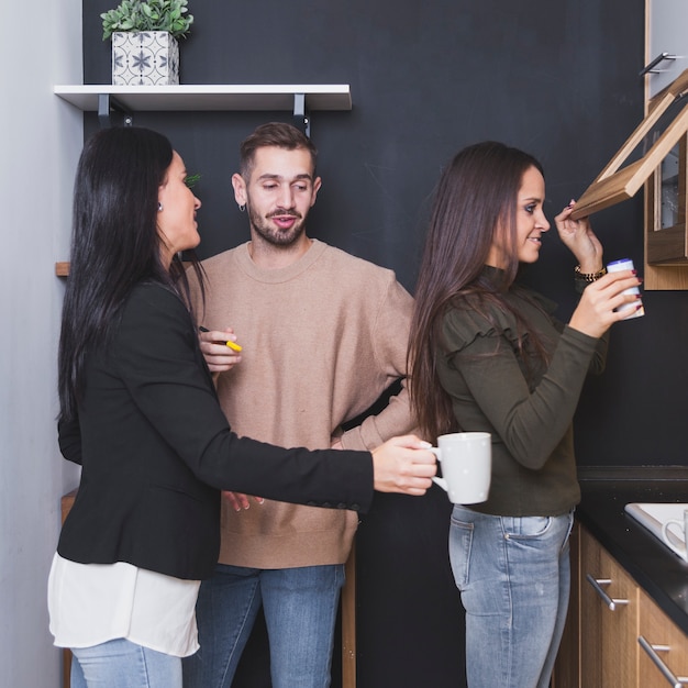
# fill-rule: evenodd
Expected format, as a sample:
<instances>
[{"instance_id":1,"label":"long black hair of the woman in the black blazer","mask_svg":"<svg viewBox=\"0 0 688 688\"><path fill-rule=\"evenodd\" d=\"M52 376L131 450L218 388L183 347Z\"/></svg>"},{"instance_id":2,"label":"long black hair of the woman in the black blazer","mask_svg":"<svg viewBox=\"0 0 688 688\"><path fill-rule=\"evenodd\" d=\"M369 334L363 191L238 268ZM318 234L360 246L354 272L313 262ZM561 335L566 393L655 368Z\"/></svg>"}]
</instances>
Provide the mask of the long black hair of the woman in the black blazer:
<instances>
[{"instance_id":1,"label":"long black hair of the woman in the black blazer","mask_svg":"<svg viewBox=\"0 0 688 688\"><path fill-rule=\"evenodd\" d=\"M95 347L116 328L121 308L143 280L163 284L189 301L186 271L176 255L160 262L158 188L173 160L157 132L118 126L85 145L74 191L69 277L58 351L60 418L73 419L84 391L84 368ZM198 260L190 254L202 290Z\"/></svg>"}]
</instances>

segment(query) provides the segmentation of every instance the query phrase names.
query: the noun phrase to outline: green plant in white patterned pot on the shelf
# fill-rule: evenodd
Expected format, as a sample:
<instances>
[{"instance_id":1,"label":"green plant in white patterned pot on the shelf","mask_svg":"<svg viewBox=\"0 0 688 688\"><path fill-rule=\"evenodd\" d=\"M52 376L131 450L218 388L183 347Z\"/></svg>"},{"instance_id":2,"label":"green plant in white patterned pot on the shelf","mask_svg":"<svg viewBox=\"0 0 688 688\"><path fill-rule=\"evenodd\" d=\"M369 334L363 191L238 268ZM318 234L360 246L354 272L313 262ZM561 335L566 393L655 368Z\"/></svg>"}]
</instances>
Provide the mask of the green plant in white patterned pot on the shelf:
<instances>
[{"instance_id":1,"label":"green plant in white patterned pot on the shelf","mask_svg":"<svg viewBox=\"0 0 688 688\"><path fill-rule=\"evenodd\" d=\"M103 12L103 41L112 37L112 84L179 84L179 44L193 23L188 0L122 0Z\"/></svg>"}]
</instances>

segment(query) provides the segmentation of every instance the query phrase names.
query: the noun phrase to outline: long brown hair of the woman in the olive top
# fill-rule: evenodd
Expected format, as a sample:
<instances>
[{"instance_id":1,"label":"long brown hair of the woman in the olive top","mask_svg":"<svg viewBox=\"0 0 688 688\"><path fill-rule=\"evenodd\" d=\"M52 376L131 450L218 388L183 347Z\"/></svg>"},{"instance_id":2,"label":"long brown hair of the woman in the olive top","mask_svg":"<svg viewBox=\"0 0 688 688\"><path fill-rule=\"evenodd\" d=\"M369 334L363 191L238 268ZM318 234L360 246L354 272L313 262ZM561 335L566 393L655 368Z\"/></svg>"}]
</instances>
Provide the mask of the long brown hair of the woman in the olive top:
<instances>
[{"instance_id":1,"label":"long brown hair of the woman in the olive top","mask_svg":"<svg viewBox=\"0 0 688 688\"><path fill-rule=\"evenodd\" d=\"M519 270L515 249L504 256L503 270L488 277L484 268L498 233L507 246L515 246L517 197L531 167L543 171L528 153L486 141L457 153L435 189L409 342L411 406L431 440L458 429L436 375L442 317L457 298L470 295L471 306L496 303L511 311L504 295Z\"/></svg>"}]
</instances>

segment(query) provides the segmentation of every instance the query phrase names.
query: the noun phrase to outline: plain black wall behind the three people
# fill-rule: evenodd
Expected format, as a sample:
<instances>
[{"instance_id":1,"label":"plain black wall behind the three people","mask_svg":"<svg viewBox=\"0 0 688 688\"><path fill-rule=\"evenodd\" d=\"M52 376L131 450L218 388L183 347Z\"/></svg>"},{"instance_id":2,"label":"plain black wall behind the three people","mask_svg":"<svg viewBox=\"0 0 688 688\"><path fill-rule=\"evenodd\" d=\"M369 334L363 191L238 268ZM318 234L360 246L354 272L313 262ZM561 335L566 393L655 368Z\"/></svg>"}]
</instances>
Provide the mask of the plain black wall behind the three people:
<instances>
[{"instance_id":1,"label":"plain black wall behind the three people","mask_svg":"<svg viewBox=\"0 0 688 688\"><path fill-rule=\"evenodd\" d=\"M85 82L110 82L110 44L85 0ZM501 140L545 167L550 219L582 193L643 115L643 0L191 0L184 84L349 84L351 112L312 113L323 188L309 232L393 268L413 291L433 186L464 145ZM140 113L201 173L201 255L247 238L230 177L238 142L289 113ZM87 133L97 127L86 115ZM608 260L642 266L642 199L593 218ZM556 231L529 279L570 313L573 256ZM646 292L584 390L581 465L686 464L688 293ZM460 607L446 565L448 503L377 498L358 535L359 686L463 683ZM260 650L255 650L258 657ZM259 664L256 662L255 664ZM254 670L254 674L251 672ZM241 685L267 685L246 669ZM264 673L263 673L264 676ZM242 683L244 681L244 683ZM263 681L263 683L262 683ZM335 680L336 685L336 680Z\"/></svg>"}]
</instances>

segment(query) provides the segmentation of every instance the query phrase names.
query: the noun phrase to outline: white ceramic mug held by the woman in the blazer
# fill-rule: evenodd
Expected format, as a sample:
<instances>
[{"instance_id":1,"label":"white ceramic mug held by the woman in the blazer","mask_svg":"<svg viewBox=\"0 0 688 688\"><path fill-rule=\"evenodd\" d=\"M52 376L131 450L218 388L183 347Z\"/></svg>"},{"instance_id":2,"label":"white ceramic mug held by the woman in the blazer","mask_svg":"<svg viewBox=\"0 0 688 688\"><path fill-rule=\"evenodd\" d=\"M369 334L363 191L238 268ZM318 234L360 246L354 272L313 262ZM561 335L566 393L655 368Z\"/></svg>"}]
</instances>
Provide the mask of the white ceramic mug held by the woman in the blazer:
<instances>
[{"instance_id":1,"label":"white ceramic mug held by the woman in the blazer","mask_svg":"<svg viewBox=\"0 0 688 688\"><path fill-rule=\"evenodd\" d=\"M433 480L455 504L486 501L492 475L492 442L489 432L454 432L437 437L431 452L442 464L442 478Z\"/></svg>"}]
</instances>

